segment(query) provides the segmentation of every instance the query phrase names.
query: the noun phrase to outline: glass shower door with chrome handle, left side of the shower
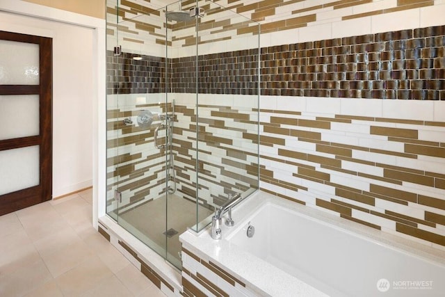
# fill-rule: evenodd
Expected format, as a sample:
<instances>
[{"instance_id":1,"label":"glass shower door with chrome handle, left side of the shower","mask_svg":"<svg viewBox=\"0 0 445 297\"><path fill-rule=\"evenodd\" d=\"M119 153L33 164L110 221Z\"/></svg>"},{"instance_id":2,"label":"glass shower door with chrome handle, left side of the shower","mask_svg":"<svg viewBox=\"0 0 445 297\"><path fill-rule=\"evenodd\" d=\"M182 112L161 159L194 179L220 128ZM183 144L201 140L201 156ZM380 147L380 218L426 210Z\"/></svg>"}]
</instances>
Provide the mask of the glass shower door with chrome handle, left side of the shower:
<instances>
[{"instance_id":1,"label":"glass shower door with chrome handle, left side of the shower","mask_svg":"<svg viewBox=\"0 0 445 297\"><path fill-rule=\"evenodd\" d=\"M113 82L107 100L108 195L114 207L107 207L107 212L165 258L168 108L162 88L165 58L161 58L165 47L156 52L129 30L134 24L152 23L150 17L118 19L115 46L109 51Z\"/></svg>"}]
</instances>

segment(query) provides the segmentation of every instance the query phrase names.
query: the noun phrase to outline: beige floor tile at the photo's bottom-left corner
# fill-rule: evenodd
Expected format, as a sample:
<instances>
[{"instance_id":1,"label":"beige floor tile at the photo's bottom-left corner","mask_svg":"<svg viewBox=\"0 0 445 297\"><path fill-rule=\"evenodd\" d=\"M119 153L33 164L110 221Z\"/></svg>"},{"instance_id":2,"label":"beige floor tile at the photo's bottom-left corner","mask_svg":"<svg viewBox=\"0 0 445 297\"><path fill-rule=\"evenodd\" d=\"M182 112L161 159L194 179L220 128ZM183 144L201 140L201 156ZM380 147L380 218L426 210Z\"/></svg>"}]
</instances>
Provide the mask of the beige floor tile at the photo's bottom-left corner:
<instances>
[{"instance_id":1,"label":"beige floor tile at the photo's bottom-left corner","mask_svg":"<svg viewBox=\"0 0 445 297\"><path fill-rule=\"evenodd\" d=\"M0 296L23 296L51 280L51 273L40 260L12 274L0 276Z\"/></svg>"}]
</instances>

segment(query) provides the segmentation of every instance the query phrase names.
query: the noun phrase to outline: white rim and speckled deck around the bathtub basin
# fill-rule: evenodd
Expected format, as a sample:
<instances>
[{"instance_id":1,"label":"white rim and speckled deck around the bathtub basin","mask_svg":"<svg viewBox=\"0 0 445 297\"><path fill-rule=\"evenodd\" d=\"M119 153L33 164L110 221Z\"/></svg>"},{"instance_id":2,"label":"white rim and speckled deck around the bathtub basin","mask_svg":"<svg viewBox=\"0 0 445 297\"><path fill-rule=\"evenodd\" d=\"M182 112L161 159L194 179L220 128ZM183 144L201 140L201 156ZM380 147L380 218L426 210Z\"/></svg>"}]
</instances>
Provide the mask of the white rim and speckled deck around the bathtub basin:
<instances>
[{"instance_id":1,"label":"white rim and speckled deck around the bathtub basin","mask_svg":"<svg viewBox=\"0 0 445 297\"><path fill-rule=\"evenodd\" d=\"M252 253L245 251L243 248L238 247L235 243L230 243L230 241L227 240L231 239L238 230L245 226L248 219L252 218L254 214L261 211L266 204L275 204L277 206L284 207L284 210L286 211L296 211L299 215L304 215L311 220L321 220L324 222L324 224L330 225L330 227L336 227L343 232L352 233L353 236L364 237L364 239L385 246L385 248L391 248L393 250L397 250L398 252L403 252L404 254L419 258L430 264L443 266L445 268L445 250L439 250L437 248L433 248L432 246L427 246L417 241L398 236L397 234L392 234L382 230L375 230L371 227L353 222L352 220L341 218L339 215L336 216L330 212L316 209L310 204L298 204L264 191L254 193L249 199L238 204L238 207L232 211L232 217L234 218L237 227L230 230L229 227L226 227L225 224L223 224L223 239L219 241L211 239L210 227L208 227L205 232L202 232L199 236L193 232L184 232L181 234L181 236L179 236L179 240L183 244L184 248L197 252L199 253L198 255L204 255L204 259L208 259L219 264L222 268L227 270L227 272L233 273L234 276L246 284L250 284L250 286L257 288L259 291L264 292L266 295L270 294L271 296L286 296L284 292L280 292L279 290L277 291L274 288L270 288L270 286L264 285L264 282L268 282L268 279L261 278L261 275L259 275L261 273L258 273L258 271L261 268L263 270L274 268L277 269L277 271L281 272L277 273L280 274L280 278L282 278L284 282L287 281L289 283L296 281L297 285L291 287L292 289L300 289L301 287L313 288L309 284L306 284L305 282L298 280L298 278L293 277L293 275L290 275L285 271L281 271L280 268L273 266L273 264L260 259ZM233 253L238 255L238 260L236 260L236 256L232 257ZM229 259L225 259L226 256ZM255 268L254 265L249 264L250 261L255 260L259 260L258 262L261 268ZM236 265L237 261L238 265ZM245 265L250 265L251 268L257 270L253 270L254 273L249 272L248 275L243 275L243 271L245 271L246 268ZM290 287L288 286L288 288ZM318 291L316 288L314 289ZM321 291L319 292L324 294Z\"/></svg>"}]
</instances>

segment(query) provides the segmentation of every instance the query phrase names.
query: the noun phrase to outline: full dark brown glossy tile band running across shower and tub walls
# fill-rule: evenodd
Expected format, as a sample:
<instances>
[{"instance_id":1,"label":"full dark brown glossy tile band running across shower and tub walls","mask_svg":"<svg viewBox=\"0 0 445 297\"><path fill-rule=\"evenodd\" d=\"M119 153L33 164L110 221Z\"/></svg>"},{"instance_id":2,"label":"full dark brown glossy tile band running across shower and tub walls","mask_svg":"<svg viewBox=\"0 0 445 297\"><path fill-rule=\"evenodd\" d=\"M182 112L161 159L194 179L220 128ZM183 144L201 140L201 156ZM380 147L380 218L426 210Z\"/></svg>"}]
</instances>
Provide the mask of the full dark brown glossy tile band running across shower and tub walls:
<instances>
[{"instance_id":1,"label":"full dark brown glossy tile band running across shower and tub walls","mask_svg":"<svg viewBox=\"0 0 445 297\"><path fill-rule=\"evenodd\" d=\"M445 100L445 25L168 59L108 51L108 94ZM165 67L168 65L168 69ZM165 73L171 74L171 85ZM198 84L196 84L198 82Z\"/></svg>"}]
</instances>

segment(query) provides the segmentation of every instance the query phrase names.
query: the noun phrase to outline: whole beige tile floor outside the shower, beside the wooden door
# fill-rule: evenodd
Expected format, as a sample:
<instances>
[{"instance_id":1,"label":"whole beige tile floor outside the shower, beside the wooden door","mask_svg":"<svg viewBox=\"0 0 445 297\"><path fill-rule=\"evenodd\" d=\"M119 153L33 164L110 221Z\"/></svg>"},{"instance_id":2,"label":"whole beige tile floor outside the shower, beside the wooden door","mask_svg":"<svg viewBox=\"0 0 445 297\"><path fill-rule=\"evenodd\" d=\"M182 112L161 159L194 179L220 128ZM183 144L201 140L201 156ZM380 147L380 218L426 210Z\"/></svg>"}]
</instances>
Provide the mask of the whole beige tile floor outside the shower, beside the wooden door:
<instances>
[{"instance_id":1,"label":"whole beige tile floor outside the shower, beside the wooden door","mask_svg":"<svg viewBox=\"0 0 445 297\"><path fill-rule=\"evenodd\" d=\"M0 216L0 296L165 296L91 225L91 190Z\"/></svg>"}]
</instances>

